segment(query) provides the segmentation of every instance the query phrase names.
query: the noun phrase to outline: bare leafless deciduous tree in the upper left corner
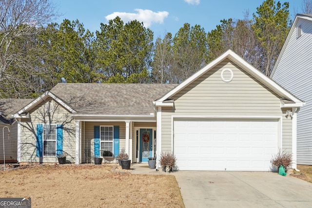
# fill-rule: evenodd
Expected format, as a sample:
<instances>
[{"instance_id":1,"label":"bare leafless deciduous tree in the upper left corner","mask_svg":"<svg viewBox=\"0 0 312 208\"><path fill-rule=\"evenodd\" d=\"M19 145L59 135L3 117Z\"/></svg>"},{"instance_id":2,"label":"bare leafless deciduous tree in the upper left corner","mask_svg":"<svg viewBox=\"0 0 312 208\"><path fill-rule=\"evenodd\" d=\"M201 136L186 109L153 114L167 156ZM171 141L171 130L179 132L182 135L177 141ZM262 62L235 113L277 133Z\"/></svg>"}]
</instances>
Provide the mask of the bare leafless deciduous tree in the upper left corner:
<instances>
[{"instance_id":1,"label":"bare leafless deciduous tree in the upper left corner","mask_svg":"<svg viewBox=\"0 0 312 208\"><path fill-rule=\"evenodd\" d=\"M40 29L54 17L54 6L49 0L0 0L0 83L19 87L16 75L34 76L38 61L35 54ZM36 51L36 52L35 52ZM35 60L34 60L35 59ZM36 60L37 59L37 60ZM33 77L29 77L30 81ZM3 84L2 81L6 84ZM10 83L10 84L8 84ZM18 94L19 89L11 87L10 92L0 97Z\"/></svg>"}]
</instances>

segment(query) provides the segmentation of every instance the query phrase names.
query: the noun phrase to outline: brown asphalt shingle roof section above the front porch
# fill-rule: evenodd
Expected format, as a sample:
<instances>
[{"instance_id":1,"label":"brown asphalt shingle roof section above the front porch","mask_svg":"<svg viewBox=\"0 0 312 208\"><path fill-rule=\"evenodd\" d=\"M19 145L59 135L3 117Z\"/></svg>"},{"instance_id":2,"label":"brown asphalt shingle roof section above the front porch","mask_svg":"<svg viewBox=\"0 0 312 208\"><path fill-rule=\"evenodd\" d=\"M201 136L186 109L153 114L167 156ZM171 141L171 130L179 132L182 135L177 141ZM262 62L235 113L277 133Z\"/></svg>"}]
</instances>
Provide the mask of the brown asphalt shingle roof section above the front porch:
<instances>
[{"instance_id":1,"label":"brown asphalt shingle roof section above the front porch","mask_svg":"<svg viewBox=\"0 0 312 208\"><path fill-rule=\"evenodd\" d=\"M153 101L177 84L59 83L51 93L78 114L150 115Z\"/></svg>"}]
</instances>

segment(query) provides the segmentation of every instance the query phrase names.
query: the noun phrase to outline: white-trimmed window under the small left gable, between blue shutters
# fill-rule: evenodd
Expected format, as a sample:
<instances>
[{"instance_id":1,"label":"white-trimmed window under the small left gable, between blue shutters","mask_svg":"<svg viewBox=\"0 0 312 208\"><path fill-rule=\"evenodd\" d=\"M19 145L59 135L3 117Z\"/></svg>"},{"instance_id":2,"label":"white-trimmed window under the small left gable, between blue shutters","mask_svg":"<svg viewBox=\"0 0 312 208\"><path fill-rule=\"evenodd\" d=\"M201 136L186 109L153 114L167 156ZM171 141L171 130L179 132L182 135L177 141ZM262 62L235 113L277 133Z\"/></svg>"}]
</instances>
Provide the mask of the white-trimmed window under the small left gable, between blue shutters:
<instances>
[{"instance_id":1,"label":"white-trimmed window under the small left gable, between blue shutters","mask_svg":"<svg viewBox=\"0 0 312 208\"><path fill-rule=\"evenodd\" d=\"M43 125L43 156L56 156L57 125Z\"/></svg>"}]
</instances>

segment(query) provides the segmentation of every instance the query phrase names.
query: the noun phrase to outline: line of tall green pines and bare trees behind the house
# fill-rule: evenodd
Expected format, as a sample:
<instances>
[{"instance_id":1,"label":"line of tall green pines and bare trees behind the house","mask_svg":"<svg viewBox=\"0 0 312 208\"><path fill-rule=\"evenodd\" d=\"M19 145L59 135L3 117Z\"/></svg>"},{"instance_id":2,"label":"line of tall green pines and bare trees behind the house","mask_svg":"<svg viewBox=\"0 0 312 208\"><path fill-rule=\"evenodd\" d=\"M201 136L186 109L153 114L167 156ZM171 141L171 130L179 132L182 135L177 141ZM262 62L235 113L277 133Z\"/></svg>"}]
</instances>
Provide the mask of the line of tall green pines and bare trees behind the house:
<instances>
[{"instance_id":1,"label":"line of tall green pines and bare trees behind the house","mask_svg":"<svg viewBox=\"0 0 312 208\"><path fill-rule=\"evenodd\" d=\"M252 19L223 19L208 33L185 23L154 42L137 20L117 17L95 33L78 19L49 23L49 0L0 0L0 12L1 98L37 97L59 82L180 83L227 49L269 76L292 24L288 2L265 0Z\"/></svg>"}]
</instances>

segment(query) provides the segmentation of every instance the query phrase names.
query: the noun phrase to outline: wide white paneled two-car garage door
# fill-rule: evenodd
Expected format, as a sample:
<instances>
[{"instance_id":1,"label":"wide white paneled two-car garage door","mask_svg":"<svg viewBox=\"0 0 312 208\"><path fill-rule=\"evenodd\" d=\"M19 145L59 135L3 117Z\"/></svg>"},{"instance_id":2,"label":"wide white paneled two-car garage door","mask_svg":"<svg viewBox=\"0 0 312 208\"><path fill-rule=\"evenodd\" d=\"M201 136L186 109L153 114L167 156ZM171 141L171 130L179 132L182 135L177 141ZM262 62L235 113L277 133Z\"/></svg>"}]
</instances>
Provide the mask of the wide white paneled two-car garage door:
<instances>
[{"instance_id":1,"label":"wide white paneled two-car garage door","mask_svg":"<svg viewBox=\"0 0 312 208\"><path fill-rule=\"evenodd\" d=\"M278 151L278 120L174 121L179 170L271 170Z\"/></svg>"}]
</instances>

